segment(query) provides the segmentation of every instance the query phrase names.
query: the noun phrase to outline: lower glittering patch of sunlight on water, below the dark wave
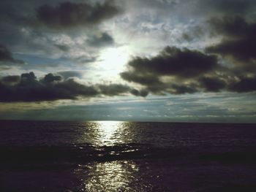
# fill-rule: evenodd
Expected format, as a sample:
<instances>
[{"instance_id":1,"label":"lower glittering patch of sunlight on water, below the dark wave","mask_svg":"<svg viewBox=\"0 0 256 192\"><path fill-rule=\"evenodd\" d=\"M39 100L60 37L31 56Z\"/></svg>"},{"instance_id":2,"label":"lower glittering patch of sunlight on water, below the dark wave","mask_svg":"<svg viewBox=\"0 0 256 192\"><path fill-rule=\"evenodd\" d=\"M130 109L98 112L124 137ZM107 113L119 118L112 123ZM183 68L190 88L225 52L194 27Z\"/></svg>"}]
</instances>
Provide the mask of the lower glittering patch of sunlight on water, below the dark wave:
<instances>
[{"instance_id":1,"label":"lower glittering patch of sunlight on water, below the dark wave","mask_svg":"<svg viewBox=\"0 0 256 192\"><path fill-rule=\"evenodd\" d=\"M84 179L84 191L134 191L138 186L138 166L132 161L110 161L89 164Z\"/></svg>"}]
</instances>

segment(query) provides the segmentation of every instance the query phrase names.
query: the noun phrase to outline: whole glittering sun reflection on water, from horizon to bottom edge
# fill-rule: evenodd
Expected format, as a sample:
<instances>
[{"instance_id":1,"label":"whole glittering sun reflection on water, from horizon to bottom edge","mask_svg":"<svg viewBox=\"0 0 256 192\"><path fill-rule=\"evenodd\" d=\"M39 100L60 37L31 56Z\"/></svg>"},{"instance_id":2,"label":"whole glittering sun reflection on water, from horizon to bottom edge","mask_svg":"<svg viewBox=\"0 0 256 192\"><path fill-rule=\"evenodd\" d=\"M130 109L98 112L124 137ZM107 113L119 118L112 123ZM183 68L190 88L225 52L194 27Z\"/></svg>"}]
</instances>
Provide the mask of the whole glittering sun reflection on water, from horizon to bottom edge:
<instances>
[{"instance_id":1,"label":"whole glittering sun reflection on water, from horizon to bottom edge","mask_svg":"<svg viewBox=\"0 0 256 192\"><path fill-rule=\"evenodd\" d=\"M96 148L99 147L102 156L100 161L80 165L75 170L75 174L81 178L82 191L142 191L148 188L139 176L139 167L135 161L108 159L111 155L127 154L128 150L136 150L131 150L127 145L135 137L132 130L129 122L97 121L86 124L81 139Z\"/></svg>"}]
</instances>

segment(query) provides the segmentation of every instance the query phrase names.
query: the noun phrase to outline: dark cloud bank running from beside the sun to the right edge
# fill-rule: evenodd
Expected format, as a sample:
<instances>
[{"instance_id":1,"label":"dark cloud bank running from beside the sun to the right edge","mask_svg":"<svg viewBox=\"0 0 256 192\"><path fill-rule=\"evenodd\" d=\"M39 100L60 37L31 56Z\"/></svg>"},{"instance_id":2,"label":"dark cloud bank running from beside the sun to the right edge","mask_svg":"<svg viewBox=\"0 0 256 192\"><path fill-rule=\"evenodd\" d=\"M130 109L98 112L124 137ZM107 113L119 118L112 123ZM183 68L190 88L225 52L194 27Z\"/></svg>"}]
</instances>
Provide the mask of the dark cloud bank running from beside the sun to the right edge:
<instances>
[{"instance_id":1,"label":"dark cloud bank running from beside the sun to the right edge","mask_svg":"<svg viewBox=\"0 0 256 192\"><path fill-rule=\"evenodd\" d=\"M256 91L255 78L242 77L238 80L243 70L236 67L227 69L218 64L213 55L166 47L153 58L137 57L129 61L127 72L122 72L120 76L128 82L143 85L146 91L154 94ZM140 95L136 90L131 93Z\"/></svg>"}]
</instances>

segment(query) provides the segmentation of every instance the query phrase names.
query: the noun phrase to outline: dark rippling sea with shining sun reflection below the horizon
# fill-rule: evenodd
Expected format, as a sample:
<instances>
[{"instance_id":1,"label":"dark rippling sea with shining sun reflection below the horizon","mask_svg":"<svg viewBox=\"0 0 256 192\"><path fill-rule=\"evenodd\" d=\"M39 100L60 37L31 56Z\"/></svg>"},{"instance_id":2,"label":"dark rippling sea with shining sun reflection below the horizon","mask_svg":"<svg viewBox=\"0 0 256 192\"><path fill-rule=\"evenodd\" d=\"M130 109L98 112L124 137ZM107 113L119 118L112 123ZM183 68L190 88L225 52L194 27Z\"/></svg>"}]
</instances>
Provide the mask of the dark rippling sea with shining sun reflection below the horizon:
<instances>
[{"instance_id":1,"label":"dark rippling sea with shining sun reflection below the horizon","mask_svg":"<svg viewBox=\"0 0 256 192\"><path fill-rule=\"evenodd\" d=\"M256 125L0 121L0 191L256 191Z\"/></svg>"}]
</instances>

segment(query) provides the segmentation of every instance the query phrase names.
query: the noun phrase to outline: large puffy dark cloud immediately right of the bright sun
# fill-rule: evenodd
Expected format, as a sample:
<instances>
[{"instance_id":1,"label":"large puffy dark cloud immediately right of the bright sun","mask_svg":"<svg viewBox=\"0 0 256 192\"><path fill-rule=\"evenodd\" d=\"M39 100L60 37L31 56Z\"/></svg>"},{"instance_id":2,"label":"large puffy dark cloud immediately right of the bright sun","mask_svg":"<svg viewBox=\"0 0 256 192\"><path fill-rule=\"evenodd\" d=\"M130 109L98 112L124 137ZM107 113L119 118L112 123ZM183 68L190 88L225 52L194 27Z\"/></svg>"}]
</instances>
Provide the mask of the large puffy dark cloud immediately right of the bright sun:
<instances>
[{"instance_id":1,"label":"large puffy dark cloud immediately right of the bright sun","mask_svg":"<svg viewBox=\"0 0 256 192\"><path fill-rule=\"evenodd\" d=\"M183 94L200 91L202 88L198 79L218 67L217 58L213 55L206 55L197 50L165 47L159 55L153 58L137 57L129 61L128 71L120 75L128 82L145 86L146 90L151 93ZM216 91L215 85L211 86L212 90L210 85L206 90ZM138 93L134 91L134 94Z\"/></svg>"}]
</instances>

